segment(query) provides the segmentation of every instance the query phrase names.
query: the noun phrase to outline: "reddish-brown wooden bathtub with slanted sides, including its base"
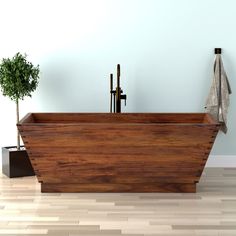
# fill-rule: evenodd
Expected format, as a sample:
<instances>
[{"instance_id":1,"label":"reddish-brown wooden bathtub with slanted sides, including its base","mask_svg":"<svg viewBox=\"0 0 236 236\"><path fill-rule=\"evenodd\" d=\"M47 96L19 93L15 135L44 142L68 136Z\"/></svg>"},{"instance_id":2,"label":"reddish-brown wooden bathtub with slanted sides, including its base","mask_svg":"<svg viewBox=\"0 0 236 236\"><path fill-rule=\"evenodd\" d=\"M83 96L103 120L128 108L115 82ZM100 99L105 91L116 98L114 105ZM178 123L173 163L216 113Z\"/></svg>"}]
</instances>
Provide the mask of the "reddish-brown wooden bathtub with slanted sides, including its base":
<instances>
[{"instance_id":1,"label":"reddish-brown wooden bathtub with slanted sides, including its base","mask_svg":"<svg viewBox=\"0 0 236 236\"><path fill-rule=\"evenodd\" d=\"M204 113L30 113L42 192L195 192L219 124Z\"/></svg>"}]
</instances>

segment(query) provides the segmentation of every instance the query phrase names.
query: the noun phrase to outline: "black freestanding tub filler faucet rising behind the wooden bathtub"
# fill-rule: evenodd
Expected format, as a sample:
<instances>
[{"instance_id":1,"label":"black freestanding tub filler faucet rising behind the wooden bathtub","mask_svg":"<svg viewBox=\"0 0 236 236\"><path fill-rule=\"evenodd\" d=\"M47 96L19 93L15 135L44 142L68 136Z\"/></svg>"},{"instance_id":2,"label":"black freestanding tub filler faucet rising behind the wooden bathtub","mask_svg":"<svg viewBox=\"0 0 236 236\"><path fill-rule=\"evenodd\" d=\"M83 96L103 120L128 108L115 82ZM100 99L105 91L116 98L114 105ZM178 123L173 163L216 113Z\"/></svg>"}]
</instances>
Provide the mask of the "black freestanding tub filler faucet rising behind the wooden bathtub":
<instances>
[{"instance_id":1,"label":"black freestanding tub filler faucet rising behind the wooden bathtub","mask_svg":"<svg viewBox=\"0 0 236 236\"><path fill-rule=\"evenodd\" d=\"M113 74L110 74L110 112L121 112L121 100L125 100L125 106L126 106L126 100L127 96L126 94L122 94L123 90L120 87L120 64L117 65L117 85L116 89L113 90ZM113 109L112 109L113 106ZM113 110L113 111L112 111Z\"/></svg>"}]
</instances>

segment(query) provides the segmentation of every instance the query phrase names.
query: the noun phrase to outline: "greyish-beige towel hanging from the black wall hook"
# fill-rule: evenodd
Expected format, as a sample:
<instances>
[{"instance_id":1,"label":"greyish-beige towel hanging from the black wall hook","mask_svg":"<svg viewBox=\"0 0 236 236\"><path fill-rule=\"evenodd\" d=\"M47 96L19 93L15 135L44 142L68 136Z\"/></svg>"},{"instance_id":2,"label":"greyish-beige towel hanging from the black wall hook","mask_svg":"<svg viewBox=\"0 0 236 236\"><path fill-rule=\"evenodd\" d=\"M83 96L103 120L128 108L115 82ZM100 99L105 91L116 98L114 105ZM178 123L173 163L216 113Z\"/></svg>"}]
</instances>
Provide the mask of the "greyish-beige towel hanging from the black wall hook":
<instances>
[{"instance_id":1,"label":"greyish-beige towel hanging from the black wall hook","mask_svg":"<svg viewBox=\"0 0 236 236\"><path fill-rule=\"evenodd\" d=\"M221 54L216 54L214 62L213 82L206 101L206 111L220 124L220 129L227 132L227 112L229 107L230 84L224 70Z\"/></svg>"}]
</instances>

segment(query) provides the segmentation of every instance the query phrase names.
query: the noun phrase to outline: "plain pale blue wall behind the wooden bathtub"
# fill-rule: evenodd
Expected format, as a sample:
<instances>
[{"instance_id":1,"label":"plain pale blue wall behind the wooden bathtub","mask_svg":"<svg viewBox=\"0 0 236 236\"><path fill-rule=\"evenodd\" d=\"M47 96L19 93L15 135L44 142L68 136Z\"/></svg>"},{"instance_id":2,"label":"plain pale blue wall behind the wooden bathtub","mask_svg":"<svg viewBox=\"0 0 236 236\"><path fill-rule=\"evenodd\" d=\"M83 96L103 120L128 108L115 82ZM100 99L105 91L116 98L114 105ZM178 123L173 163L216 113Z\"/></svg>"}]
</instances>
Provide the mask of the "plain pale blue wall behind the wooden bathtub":
<instances>
[{"instance_id":1,"label":"plain pale blue wall behind the wooden bathtub","mask_svg":"<svg viewBox=\"0 0 236 236\"><path fill-rule=\"evenodd\" d=\"M27 52L41 66L40 86L22 103L22 115L108 112L117 63L125 112L202 112L213 49L222 47L233 94L229 132L218 136L212 153L236 154L235 0L8 0L0 9L0 57Z\"/></svg>"}]
</instances>

